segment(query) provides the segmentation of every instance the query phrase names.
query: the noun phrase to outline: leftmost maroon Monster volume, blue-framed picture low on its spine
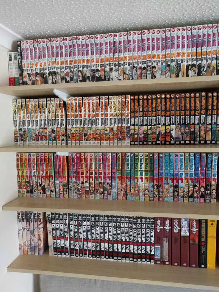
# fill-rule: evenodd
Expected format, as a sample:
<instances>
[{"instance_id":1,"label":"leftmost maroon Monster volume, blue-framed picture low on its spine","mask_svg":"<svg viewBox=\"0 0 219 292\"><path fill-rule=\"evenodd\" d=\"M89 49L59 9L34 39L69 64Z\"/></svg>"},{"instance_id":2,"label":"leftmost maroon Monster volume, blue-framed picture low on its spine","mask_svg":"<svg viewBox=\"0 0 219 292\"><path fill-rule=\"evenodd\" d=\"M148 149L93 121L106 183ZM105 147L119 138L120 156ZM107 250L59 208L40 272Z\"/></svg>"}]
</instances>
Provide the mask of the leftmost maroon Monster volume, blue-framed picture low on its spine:
<instances>
[{"instance_id":1,"label":"leftmost maroon Monster volume, blue-framed picture low on its spine","mask_svg":"<svg viewBox=\"0 0 219 292\"><path fill-rule=\"evenodd\" d=\"M154 263L163 264L163 218L154 218Z\"/></svg>"}]
</instances>

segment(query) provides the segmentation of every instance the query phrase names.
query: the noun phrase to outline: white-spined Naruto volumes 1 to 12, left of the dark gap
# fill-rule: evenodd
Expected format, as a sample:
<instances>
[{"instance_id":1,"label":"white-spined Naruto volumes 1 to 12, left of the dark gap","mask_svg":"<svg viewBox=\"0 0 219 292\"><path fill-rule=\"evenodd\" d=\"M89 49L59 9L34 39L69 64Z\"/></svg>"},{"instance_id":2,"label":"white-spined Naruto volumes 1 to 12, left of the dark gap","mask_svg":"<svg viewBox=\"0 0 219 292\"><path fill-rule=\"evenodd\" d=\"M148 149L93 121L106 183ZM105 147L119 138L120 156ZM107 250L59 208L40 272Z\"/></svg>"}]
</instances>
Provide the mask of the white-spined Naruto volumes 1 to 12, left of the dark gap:
<instances>
[{"instance_id":1,"label":"white-spined Naruto volumes 1 to 12, left of the dark gap","mask_svg":"<svg viewBox=\"0 0 219 292\"><path fill-rule=\"evenodd\" d=\"M16 146L66 145L66 106L62 99L13 99Z\"/></svg>"}]
</instances>

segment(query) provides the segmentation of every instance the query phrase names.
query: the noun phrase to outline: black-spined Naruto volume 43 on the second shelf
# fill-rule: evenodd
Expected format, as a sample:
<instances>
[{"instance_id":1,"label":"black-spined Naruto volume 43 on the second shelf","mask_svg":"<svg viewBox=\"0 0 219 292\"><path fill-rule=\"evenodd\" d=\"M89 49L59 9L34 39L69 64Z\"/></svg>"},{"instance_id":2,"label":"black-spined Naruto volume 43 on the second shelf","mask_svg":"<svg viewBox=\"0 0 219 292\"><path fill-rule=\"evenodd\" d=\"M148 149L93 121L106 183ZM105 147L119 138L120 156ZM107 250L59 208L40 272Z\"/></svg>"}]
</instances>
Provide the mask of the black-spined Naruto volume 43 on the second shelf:
<instances>
[{"instance_id":1,"label":"black-spined Naruto volume 43 on the second shelf","mask_svg":"<svg viewBox=\"0 0 219 292\"><path fill-rule=\"evenodd\" d=\"M199 143L205 144L207 129L206 129L206 92L200 93L200 118L199 118ZM212 100L212 98L211 98ZM211 135L211 131L209 131L209 134ZM211 139L210 139L211 140Z\"/></svg>"}]
</instances>

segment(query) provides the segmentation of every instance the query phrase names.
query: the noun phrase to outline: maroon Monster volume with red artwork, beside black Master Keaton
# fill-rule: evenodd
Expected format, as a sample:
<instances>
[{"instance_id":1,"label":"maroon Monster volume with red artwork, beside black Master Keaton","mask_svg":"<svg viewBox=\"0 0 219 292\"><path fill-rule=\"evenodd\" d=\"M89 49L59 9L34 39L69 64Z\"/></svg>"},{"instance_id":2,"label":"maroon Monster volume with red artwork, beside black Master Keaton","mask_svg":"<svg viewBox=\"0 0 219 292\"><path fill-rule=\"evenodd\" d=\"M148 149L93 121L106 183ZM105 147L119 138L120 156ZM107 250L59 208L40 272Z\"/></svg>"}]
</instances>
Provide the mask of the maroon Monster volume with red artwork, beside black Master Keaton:
<instances>
[{"instance_id":1,"label":"maroon Monster volume with red artwork, beside black Master Keaton","mask_svg":"<svg viewBox=\"0 0 219 292\"><path fill-rule=\"evenodd\" d=\"M189 266L198 268L198 219L190 219Z\"/></svg>"}]
</instances>

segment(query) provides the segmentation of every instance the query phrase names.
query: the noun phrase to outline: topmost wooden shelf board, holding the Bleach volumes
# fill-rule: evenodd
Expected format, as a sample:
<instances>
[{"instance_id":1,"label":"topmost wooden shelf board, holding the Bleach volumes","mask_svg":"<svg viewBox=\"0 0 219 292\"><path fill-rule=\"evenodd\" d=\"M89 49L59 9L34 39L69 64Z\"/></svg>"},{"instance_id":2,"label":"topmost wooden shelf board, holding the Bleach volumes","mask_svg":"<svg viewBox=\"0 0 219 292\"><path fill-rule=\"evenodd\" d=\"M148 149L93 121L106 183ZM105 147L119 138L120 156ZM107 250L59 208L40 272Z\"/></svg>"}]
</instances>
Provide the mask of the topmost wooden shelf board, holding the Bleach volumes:
<instances>
[{"instance_id":1,"label":"topmost wooden shelf board, holding the Bleach volumes","mask_svg":"<svg viewBox=\"0 0 219 292\"><path fill-rule=\"evenodd\" d=\"M68 93L69 95L97 95L97 94L132 94L177 90L201 90L219 87L219 76L200 76L190 78L168 78L127 80L112 82L86 82L67 84L48 84L31 86L2 86L0 93L17 96L49 96L54 95L53 89Z\"/></svg>"}]
</instances>

